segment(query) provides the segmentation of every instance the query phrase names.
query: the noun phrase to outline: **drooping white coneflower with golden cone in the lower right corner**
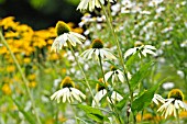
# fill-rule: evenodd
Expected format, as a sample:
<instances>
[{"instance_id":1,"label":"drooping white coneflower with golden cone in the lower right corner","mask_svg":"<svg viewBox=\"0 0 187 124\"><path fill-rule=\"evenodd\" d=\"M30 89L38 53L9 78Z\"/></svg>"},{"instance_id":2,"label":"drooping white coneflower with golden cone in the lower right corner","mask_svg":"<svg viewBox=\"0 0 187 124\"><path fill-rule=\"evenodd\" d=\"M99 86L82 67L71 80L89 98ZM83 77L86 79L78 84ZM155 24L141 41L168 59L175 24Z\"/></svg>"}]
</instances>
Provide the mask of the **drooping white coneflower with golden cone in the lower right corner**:
<instances>
[{"instance_id":1,"label":"drooping white coneflower with golden cone in the lower right corner","mask_svg":"<svg viewBox=\"0 0 187 124\"><path fill-rule=\"evenodd\" d=\"M187 111L187 104L183 102L183 92L179 89L173 89L168 93L168 99L165 100L165 103L157 111L162 112L162 115L164 115L165 119L173 114L177 117L177 111Z\"/></svg>"}]
</instances>

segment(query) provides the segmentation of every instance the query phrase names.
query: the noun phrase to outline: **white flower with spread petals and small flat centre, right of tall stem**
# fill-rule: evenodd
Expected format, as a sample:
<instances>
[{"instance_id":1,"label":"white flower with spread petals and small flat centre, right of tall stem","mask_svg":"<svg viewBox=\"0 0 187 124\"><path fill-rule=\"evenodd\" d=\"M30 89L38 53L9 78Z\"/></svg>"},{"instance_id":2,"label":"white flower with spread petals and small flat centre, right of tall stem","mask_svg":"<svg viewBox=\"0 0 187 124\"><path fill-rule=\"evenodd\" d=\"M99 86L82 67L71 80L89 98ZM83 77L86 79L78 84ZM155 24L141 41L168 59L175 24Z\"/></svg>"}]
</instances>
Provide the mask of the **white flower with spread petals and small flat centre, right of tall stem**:
<instances>
[{"instance_id":1,"label":"white flower with spread petals and small flat centre, right of tall stem","mask_svg":"<svg viewBox=\"0 0 187 124\"><path fill-rule=\"evenodd\" d=\"M136 42L134 48L130 48L124 53L124 58L127 58L130 55L134 55L139 50L140 50L140 53L138 55L140 58L142 55L146 57L146 54L156 56L156 53L153 52L153 50L156 50L156 48L154 46L143 45L141 42Z\"/></svg>"}]
</instances>

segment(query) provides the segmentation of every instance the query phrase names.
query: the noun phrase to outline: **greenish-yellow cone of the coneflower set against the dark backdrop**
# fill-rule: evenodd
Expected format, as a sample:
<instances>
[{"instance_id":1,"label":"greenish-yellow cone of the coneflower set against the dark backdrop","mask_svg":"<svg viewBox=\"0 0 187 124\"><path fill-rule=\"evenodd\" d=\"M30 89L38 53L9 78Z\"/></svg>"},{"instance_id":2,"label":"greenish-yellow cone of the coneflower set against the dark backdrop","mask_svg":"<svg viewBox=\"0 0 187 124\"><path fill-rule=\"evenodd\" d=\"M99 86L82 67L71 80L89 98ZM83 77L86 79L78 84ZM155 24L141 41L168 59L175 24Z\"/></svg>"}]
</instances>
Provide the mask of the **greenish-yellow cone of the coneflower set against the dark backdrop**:
<instances>
[{"instance_id":1,"label":"greenish-yellow cone of the coneflower set against the dark backdrop","mask_svg":"<svg viewBox=\"0 0 187 124\"><path fill-rule=\"evenodd\" d=\"M70 32L70 27L63 21L58 21L56 24L56 33L57 35L62 35L64 33Z\"/></svg>"}]
</instances>

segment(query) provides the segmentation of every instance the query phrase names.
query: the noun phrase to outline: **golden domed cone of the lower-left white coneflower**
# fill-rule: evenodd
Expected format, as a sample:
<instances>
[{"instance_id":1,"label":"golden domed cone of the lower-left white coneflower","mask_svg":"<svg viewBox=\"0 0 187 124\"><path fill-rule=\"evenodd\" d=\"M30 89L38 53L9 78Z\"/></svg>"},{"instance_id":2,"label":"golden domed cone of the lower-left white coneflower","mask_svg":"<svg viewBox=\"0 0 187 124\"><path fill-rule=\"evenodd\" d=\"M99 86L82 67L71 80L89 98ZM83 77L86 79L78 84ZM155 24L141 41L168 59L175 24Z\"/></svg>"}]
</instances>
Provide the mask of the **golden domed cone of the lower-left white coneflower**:
<instances>
[{"instance_id":1,"label":"golden domed cone of the lower-left white coneflower","mask_svg":"<svg viewBox=\"0 0 187 124\"><path fill-rule=\"evenodd\" d=\"M74 83L74 81L72 80L70 77L66 77L62 81L61 88L75 88L75 83Z\"/></svg>"}]
</instances>

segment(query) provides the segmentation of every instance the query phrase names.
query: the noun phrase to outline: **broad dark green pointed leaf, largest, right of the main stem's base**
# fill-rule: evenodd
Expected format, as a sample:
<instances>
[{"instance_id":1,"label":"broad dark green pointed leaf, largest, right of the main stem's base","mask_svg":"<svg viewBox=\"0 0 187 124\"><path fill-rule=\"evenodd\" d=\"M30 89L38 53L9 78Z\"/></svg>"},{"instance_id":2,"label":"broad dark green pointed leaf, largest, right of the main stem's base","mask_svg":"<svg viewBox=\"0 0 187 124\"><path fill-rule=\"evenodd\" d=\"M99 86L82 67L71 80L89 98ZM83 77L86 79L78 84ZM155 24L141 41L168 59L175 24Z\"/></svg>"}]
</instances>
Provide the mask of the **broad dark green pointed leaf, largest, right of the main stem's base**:
<instances>
[{"instance_id":1,"label":"broad dark green pointed leaf, largest, right of the main stem's base","mask_svg":"<svg viewBox=\"0 0 187 124\"><path fill-rule=\"evenodd\" d=\"M146 108L151 103L155 91L163 82L164 82L164 80L158 82L157 84L153 86L150 90L144 91L144 93L142 95L140 95L138 99L135 99L132 102L132 108L131 108L132 112L136 113L136 112L142 111L144 108Z\"/></svg>"}]
</instances>

